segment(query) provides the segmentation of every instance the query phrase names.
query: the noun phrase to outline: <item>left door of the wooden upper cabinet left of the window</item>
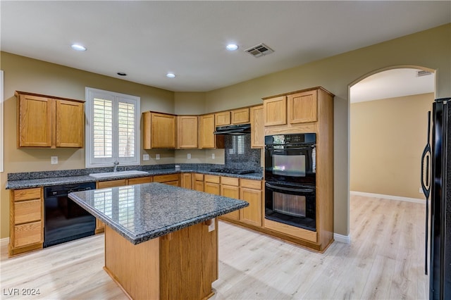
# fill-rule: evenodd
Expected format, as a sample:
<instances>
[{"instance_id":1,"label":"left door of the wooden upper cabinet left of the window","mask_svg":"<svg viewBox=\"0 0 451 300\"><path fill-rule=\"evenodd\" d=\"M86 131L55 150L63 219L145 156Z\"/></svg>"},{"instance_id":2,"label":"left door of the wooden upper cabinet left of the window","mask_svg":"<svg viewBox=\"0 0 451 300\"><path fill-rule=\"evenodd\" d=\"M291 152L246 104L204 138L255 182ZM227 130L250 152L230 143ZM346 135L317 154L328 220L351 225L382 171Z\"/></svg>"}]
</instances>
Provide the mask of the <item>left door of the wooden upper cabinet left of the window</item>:
<instances>
[{"instance_id":1,"label":"left door of the wooden upper cabinet left of the window","mask_svg":"<svg viewBox=\"0 0 451 300\"><path fill-rule=\"evenodd\" d=\"M18 146L50 147L55 101L41 96L18 96Z\"/></svg>"}]
</instances>

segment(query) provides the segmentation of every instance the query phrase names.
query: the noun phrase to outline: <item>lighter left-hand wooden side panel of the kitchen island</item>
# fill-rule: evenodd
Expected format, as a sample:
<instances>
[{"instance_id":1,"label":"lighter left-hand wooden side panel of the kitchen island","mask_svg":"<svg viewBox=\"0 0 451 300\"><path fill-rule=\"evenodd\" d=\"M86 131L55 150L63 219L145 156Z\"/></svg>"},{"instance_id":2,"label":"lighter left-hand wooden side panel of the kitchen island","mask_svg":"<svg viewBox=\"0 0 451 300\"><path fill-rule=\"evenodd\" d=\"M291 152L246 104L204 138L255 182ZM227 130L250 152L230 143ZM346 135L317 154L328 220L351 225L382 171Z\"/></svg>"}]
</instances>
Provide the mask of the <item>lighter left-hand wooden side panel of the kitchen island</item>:
<instances>
[{"instance_id":1,"label":"lighter left-hand wooden side panel of the kitchen island","mask_svg":"<svg viewBox=\"0 0 451 300\"><path fill-rule=\"evenodd\" d=\"M105 226L105 267L132 299L160 298L159 238L134 245Z\"/></svg>"}]
</instances>

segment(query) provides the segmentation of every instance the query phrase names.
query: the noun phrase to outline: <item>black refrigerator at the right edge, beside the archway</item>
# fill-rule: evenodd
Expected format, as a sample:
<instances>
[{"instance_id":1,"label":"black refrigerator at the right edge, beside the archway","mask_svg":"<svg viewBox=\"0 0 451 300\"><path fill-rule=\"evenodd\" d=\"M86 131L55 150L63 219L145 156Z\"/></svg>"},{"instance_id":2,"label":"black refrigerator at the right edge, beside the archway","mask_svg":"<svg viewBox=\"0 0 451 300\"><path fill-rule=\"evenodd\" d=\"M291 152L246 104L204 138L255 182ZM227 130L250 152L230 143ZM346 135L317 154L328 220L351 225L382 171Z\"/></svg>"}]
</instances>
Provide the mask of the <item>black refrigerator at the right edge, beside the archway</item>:
<instances>
[{"instance_id":1,"label":"black refrigerator at the right edge, beside the archway","mask_svg":"<svg viewBox=\"0 0 451 300\"><path fill-rule=\"evenodd\" d=\"M429 275L429 299L440 300L451 299L450 106L451 98L433 102L432 120L428 113L428 142L421 157L421 187L426 196L425 273Z\"/></svg>"}]
</instances>

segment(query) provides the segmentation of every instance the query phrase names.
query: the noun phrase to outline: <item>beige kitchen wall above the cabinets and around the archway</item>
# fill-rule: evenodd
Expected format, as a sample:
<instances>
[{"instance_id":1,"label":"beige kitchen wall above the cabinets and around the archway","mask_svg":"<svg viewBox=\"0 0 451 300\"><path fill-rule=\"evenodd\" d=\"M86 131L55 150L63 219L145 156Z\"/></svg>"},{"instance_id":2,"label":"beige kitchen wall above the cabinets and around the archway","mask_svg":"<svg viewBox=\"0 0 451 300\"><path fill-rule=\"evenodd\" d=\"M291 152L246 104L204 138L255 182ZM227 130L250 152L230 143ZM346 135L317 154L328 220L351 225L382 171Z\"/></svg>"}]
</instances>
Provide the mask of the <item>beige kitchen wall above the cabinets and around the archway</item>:
<instances>
[{"instance_id":1,"label":"beige kitchen wall above the cabinets and around the archway","mask_svg":"<svg viewBox=\"0 0 451 300\"><path fill-rule=\"evenodd\" d=\"M16 149L16 89L84 99L85 86L135 94L144 99L142 111L180 113L178 107L190 108L190 113L221 111L241 106L261 104L261 97L309 87L322 86L335 94L334 100L334 231L349 234L349 111L348 88L353 82L376 70L393 66L413 65L437 70L438 97L451 95L451 24L414 35L376 44L363 49L273 73L237 85L201 94L173 93L153 87L135 85L124 80L65 68L60 65L20 58L1 53L0 68L5 71L5 172L1 178L1 237L8 237L8 192L6 173L23 170L50 170L49 156L64 156L59 168L84 168L83 150L18 150ZM261 58L263 59L263 58ZM237 70L240 72L240 70ZM204 96L204 108L199 108L197 96ZM175 99L176 98L176 99ZM198 107L195 110L191 108ZM191 110L192 109L192 110ZM178 153L178 152L177 152ZM149 152L152 156L152 152ZM180 154L181 155L181 154ZM17 157L16 157L17 156ZM205 156L211 156L209 151ZM19 159L20 158L20 159ZM61 159L61 158L60 158ZM180 160L179 160L180 159ZM206 159L207 160L207 159ZM11 162L10 162L11 161ZM178 158L178 162L183 158ZM143 162L144 163L144 162ZM149 163L156 163L149 161Z\"/></svg>"}]
</instances>

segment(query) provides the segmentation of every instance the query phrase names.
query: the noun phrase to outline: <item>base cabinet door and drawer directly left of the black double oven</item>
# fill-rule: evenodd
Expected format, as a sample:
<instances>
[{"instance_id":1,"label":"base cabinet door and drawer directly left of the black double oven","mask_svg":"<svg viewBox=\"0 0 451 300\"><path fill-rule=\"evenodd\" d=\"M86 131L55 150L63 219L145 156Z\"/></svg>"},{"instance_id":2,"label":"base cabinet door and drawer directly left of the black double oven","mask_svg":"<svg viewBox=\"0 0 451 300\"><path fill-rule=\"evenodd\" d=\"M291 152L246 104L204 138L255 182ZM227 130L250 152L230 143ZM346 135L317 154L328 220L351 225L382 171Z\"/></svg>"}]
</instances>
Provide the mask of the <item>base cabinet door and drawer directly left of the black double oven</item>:
<instances>
[{"instance_id":1,"label":"base cabinet door and drawer directly left of the black double oven","mask_svg":"<svg viewBox=\"0 0 451 300\"><path fill-rule=\"evenodd\" d=\"M259 189L251 187L259 187ZM261 227L261 195L260 181L241 180L240 199L249 202L249 206L240 209L240 221Z\"/></svg>"}]
</instances>

